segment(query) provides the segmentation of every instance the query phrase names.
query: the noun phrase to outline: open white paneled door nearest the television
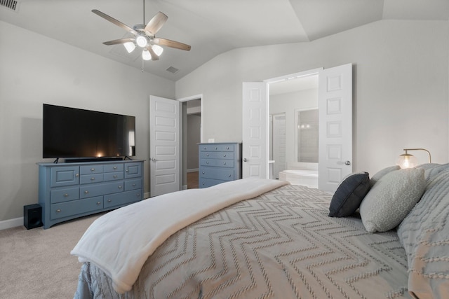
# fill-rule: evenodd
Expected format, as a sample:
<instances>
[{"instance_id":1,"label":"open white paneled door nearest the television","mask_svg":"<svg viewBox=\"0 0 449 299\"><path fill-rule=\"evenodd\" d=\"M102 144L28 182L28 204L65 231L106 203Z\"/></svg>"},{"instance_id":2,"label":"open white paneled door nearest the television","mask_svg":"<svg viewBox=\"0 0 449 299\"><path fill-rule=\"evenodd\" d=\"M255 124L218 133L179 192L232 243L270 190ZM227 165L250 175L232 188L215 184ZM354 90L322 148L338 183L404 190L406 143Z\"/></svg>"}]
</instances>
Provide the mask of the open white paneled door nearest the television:
<instances>
[{"instance_id":1,"label":"open white paneled door nearest the television","mask_svg":"<svg viewBox=\"0 0 449 299\"><path fill-rule=\"evenodd\" d=\"M149 97L150 196L180 190L180 102Z\"/></svg>"}]
</instances>

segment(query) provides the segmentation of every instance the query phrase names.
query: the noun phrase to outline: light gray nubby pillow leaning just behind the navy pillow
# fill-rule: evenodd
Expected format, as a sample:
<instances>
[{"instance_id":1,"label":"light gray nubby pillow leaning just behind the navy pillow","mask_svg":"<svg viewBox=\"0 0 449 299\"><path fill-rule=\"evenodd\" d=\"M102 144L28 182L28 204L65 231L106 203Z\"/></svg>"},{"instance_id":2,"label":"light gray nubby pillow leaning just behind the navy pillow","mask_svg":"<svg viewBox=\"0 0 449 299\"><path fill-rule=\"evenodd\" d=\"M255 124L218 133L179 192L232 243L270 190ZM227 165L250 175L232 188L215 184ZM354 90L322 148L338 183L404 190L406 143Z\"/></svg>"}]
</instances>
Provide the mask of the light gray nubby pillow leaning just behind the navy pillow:
<instances>
[{"instance_id":1,"label":"light gray nubby pillow leaning just behind the navy pillow","mask_svg":"<svg viewBox=\"0 0 449 299\"><path fill-rule=\"evenodd\" d=\"M360 204L368 232L396 228L420 200L425 188L424 169L399 169L382 176Z\"/></svg>"}]
</instances>

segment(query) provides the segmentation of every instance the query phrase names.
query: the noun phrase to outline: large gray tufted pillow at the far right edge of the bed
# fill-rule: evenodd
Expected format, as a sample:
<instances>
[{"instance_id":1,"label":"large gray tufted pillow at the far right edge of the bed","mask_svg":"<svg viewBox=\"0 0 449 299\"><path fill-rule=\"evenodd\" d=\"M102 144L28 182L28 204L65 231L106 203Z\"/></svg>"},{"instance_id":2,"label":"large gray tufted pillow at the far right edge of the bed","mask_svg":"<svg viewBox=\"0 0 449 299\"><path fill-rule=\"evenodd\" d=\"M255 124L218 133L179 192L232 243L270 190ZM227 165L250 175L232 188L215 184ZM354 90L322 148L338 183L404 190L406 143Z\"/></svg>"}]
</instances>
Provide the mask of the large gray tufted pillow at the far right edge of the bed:
<instances>
[{"instance_id":1,"label":"large gray tufted pillow at the far right edge of the bed","mask_svg":"<svg viewBox=\"0 0 449 299\"><path fill-rule=\"evenodd\" d=\"M439 169L441 170L441 169ZM449 169L429 178L422 199L398 227L414 298L445 298L449 290Z\"/></svg>"}]
</instances>

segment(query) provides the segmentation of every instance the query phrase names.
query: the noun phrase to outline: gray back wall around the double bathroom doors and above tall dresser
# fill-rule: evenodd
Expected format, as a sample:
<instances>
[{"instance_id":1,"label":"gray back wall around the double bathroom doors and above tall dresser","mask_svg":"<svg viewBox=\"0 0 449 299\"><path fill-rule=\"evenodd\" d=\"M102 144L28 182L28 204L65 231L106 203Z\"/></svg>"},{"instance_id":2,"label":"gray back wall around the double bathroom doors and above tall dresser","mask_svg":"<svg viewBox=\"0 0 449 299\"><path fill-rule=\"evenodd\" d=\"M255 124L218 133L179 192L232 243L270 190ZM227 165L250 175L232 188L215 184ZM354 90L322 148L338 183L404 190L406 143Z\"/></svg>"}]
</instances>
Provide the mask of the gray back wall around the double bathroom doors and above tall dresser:
<instances>
[{"instance_id":1,"label":"gray back wall around the double bathroom doors and above tall dresser","mask_svg":"<svg viewBox=\"0 0 449 299\"><path fill-rule=\"evenodd\" d=\"M394 165L403 148L448 162L448 21L373 22L309 43L239 48L176 82L203 95L203 139L242 138L242 82L354 64L354 171ZM425 153L416 153L423 162Z\"/></svg>"}]
</instances>

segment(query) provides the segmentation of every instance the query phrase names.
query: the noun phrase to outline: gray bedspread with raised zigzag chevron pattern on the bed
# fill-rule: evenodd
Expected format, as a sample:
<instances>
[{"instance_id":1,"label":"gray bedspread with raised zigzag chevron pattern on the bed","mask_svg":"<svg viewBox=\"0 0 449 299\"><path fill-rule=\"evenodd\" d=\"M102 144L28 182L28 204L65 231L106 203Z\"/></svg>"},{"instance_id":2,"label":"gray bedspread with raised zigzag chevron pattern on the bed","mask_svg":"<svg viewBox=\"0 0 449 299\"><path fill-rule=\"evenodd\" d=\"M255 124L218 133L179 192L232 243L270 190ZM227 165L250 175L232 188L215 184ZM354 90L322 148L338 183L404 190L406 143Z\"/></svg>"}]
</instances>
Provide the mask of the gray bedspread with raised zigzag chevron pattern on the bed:
<instances>
[{"instance_id":1,"label":"gray bedspread with raised zigzag chevron pattern on the bed","mask_svg":"<svg viewBox=\"0 0 449 299\"><path fill-rule=\"evenodd\" d=\"M127 293L84 263L75 298L410 298L396 231L328 217L330 198L288 185L239 202L169 237Z\"/></svg>"}]
</instances>

